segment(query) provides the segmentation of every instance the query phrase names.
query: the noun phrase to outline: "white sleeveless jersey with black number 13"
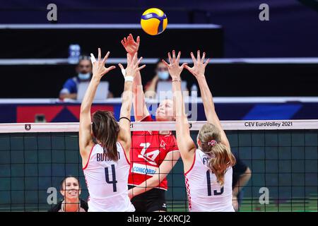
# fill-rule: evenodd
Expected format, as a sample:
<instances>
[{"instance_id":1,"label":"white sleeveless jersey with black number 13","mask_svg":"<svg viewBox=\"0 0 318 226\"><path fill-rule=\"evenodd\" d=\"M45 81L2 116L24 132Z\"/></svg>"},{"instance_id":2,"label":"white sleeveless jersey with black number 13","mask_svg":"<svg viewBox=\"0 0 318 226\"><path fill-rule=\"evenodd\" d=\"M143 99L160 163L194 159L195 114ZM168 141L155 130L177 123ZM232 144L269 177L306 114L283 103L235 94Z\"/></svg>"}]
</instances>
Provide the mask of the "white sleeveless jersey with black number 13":
<instances>
[{"instance_id":1,"label":"white sleeveless jersey with black number 13","mask_svg":"<svg viewBox=\"0 0 318 226\"><path fill-rule=\"evenodd\" d=\"M232 207L232 167L218 184L216 175L208 168L209 156L196 149L191 169L184 173L189 210L193 212L234 212Z\"/></svg>"}]
</instances>

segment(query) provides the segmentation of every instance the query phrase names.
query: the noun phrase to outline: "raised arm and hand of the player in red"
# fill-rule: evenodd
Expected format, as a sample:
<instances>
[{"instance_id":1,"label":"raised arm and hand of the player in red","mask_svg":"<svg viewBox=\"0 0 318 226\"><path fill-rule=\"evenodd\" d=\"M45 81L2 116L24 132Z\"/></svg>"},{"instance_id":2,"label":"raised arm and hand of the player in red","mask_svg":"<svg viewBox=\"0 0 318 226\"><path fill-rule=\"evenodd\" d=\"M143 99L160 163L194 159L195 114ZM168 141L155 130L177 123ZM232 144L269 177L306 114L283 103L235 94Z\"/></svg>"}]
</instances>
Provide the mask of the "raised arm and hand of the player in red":
<instances>
[{"instance_id":1,"label":"raised arm and hand of the player in red","mask_svg":"<svg viewBox=\"0 0 318 226\"><path fill-rule=\"evenodd\" d=\"M131 58L134 57L134 54L138 53L139 44L140 37L138 36L135 42L134 37L131 34L129 34L128 37L124 37L124 39L122 40L122 45L126 49L126 52L131 56ZM149 111L146 106L145 94L143 93L140 71L137 72L134 78L133 90L135 121L141 121L143 118L149 115Z\"/></svg>"}]
</instances>

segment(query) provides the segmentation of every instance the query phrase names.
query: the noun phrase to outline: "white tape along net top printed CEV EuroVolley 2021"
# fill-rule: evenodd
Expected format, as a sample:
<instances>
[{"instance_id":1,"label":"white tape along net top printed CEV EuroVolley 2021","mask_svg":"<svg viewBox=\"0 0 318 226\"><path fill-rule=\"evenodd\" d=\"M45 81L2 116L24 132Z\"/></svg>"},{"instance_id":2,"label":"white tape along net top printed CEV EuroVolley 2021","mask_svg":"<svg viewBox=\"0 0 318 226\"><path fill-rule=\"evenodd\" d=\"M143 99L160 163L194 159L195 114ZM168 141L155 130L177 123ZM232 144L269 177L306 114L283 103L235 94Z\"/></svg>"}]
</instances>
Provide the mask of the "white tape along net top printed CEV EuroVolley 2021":
<instances>
[{"instance_id":1,"label":"white tape along net top printed CEV EuroVolley 2021","mask_svg":"<svg viewBox=\"0 0 318 226\"><path fill-rule=\"evenodd\" d=\"M189 121L189 128L198 131L206 121ZM263 121L221 121L225 130L284 130L318 129L318 120L263 120ZM75 123L14 123L0 124L0 133L54 133L78 132ZM131 122L131 131L175 131L174 121Z\"/></svg>"}]
</instances>

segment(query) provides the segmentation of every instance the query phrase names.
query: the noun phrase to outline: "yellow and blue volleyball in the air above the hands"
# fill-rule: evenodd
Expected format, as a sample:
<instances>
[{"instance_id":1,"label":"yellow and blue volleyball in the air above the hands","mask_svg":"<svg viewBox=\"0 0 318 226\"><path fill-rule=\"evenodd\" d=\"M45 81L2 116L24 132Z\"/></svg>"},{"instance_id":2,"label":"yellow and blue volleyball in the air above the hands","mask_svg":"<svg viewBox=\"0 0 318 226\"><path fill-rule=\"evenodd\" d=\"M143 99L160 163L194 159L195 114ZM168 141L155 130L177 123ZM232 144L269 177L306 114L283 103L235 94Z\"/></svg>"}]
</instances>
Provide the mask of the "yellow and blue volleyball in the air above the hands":
<instances>
[{"instance_id":1,"label":"yellow and blue volleyball in the air above the hands","mask_svg":"<svg viewBox=\"0 0 318 226\"><path fill-rule=\"evenodd\" d=\"M159 35L167 28L167 16L159 8L149 8L143 12L140 23L148 35Z\"/></svg>"}]
</instances>

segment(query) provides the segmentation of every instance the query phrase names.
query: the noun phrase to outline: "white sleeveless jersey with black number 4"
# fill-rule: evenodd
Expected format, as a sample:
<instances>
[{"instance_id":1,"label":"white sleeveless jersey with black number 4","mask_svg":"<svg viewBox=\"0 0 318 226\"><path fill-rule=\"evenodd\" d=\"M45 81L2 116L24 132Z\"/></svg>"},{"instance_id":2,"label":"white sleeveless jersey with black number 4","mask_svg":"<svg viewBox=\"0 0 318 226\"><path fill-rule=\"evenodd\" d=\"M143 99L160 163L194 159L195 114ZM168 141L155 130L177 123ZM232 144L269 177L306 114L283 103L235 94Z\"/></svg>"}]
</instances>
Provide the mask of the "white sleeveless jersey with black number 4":
<instances>
[{"instance_id":1,"label":"white sleeveless jersey with black number 4","mask_svg":"<svg viewBox=\"0 0 318 226\"><path fill-rule=\"evenodd\" d=\"M88 212L133 212L128 196L129 162L124 148L117 142L118 161L107 157L101 145L90 150L83 172L88 193Z\"/></svg>"}]
</instances>

